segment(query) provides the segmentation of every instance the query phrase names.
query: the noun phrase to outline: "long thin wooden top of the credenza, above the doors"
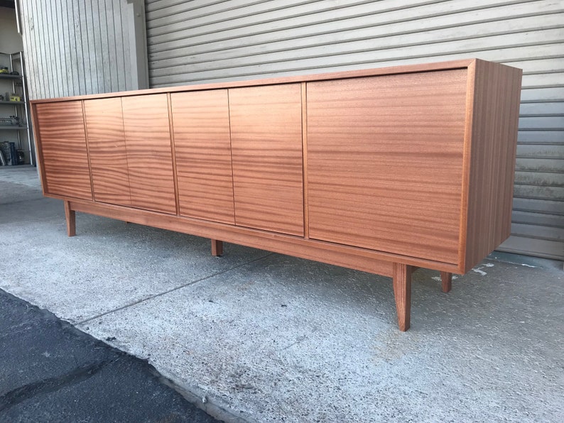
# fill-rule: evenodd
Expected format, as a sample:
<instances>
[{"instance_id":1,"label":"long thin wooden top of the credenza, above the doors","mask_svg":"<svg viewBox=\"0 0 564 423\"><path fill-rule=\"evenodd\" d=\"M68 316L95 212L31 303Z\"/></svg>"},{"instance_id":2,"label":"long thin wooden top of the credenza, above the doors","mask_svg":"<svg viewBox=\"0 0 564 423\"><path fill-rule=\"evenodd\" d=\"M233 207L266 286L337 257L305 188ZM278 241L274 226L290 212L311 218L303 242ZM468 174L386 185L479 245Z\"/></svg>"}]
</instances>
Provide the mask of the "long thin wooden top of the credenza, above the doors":
<instances>
[{"instance_id":1,"label":"long thin wooden top of the credenza, above the doors","mask_svg":"<svg viewBox=\"0 0 564 423\"><path fill-rule=\"evenodd\" d=\"M414 73L414 72L430 72L435 70L464 69L472 65L477 60L479 59L452 60L449 62L433 62L433 63L422 63L416 65L401 65L394 67L379 67L379 68L366 69L366 70L348 70L344 72L330 72L330 73L322 73L316 75L298 75L291 77L277 77L277 78L269 78L269 79L252 79L246 81L216 82L213 84L194 84L194 85L184 85L184 86L175 86L175 87L140 89L134 91L112 92L112 93L103 93L103 94L87 94L87 95L75 96L75 97L60 97L56 99L37 99L37 100L32 100L31 103L32 104L51 103L54 101L100 99L106 97L125 97L125 96L134 96L134 95L143 95L143 94L200 91L205 89L222 89L222 88L235 88L235 87L252 87L252 86L271 85L271 84L291 84L291 83L299 83L299 82L324 81L329 79L347 79L354 77L372 77L379 75L396 75L396 74Z\"/></svg>"}]
</instances>

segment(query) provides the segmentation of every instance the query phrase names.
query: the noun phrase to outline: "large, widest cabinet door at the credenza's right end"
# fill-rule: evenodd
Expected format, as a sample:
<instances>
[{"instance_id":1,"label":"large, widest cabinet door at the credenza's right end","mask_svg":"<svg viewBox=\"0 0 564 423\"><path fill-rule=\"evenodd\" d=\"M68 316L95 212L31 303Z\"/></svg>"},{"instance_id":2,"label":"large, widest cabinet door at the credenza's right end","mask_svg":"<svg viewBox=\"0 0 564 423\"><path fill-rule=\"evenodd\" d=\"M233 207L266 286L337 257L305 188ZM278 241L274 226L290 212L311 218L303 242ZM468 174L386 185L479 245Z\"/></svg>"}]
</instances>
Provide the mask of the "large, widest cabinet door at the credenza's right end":
<instances>
[{"instance_id":1,"label":"large, widest cabinet door at the credenza's right end","mask_svg":"<svg viewBox=\"0 0 564 423\"><path fill-rule=\"evenodd\" d=\"M309 234L457 263L466 70L307 85Z\"/></svg>"}]
</instances>

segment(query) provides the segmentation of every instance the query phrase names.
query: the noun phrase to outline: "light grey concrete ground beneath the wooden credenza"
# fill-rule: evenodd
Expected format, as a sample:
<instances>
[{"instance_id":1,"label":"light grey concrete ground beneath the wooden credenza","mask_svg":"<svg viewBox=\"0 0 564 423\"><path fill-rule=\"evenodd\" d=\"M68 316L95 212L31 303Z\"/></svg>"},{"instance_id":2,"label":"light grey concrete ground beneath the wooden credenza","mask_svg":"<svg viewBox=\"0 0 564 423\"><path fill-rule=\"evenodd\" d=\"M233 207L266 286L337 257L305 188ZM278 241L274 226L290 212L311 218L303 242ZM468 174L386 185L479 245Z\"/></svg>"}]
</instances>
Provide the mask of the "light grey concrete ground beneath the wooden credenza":
<instances>
[{"instance_id":1,"label":"light grey concrete ground beneath the wooden credenza","mask_svg":"<svg viewBox=\"0 0 564 423\"><path fill-rule=\"evenodd\" d=\"M8 175L10 172L11 175ZM0 169L0 288L249 422L562 422L562 263L494 254L452 292L77 214ZM26 179L27 178L27 179ZM27 182L26 182L27 180Z\"/></svg>"}]
</instances>

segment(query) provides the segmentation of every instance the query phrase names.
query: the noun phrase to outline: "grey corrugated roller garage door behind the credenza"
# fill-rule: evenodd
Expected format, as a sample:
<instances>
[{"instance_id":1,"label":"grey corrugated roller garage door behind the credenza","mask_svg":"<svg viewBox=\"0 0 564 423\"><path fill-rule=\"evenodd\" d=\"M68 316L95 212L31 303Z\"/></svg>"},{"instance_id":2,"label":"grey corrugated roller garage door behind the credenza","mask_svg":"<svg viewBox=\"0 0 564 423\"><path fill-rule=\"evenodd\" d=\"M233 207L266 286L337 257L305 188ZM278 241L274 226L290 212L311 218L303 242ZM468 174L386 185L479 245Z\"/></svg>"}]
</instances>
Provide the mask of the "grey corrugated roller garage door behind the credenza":
<instances>
[{"instance_id":1,"label":"grey corrugated roller garage door behind the credenza","mask_svg":"<svg viewBox=\"0 0 564 423\"><path fill-rule=\"evenodd\" d=\"M564 2L146 1L151 87L479 57L524 70L512 236L564 258Z\"/></svg>"}]
</instances>

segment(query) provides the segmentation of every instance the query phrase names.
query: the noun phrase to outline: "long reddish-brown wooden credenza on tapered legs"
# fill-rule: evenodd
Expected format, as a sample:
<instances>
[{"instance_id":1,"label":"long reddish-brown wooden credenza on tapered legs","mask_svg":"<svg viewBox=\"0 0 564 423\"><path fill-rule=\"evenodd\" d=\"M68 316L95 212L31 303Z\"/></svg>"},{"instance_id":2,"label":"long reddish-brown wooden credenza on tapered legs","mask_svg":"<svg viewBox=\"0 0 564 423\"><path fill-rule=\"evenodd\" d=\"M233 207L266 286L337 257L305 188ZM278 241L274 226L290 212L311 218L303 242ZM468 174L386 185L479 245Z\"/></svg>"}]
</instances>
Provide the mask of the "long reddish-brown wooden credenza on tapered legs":
<instances>
[{"instance_id":1,"label":"long reddish-brown wooden credenza on tapered legs","mask_svg":"<svg viewBox=\"0 0 564 423\"><path fill-rule=\"evenodd\" d=\"M521 70L483 60L32 101L43 193L391 276L466 273L510 233Z\"/></svg>"}]
</instances>

